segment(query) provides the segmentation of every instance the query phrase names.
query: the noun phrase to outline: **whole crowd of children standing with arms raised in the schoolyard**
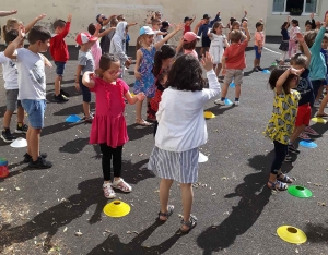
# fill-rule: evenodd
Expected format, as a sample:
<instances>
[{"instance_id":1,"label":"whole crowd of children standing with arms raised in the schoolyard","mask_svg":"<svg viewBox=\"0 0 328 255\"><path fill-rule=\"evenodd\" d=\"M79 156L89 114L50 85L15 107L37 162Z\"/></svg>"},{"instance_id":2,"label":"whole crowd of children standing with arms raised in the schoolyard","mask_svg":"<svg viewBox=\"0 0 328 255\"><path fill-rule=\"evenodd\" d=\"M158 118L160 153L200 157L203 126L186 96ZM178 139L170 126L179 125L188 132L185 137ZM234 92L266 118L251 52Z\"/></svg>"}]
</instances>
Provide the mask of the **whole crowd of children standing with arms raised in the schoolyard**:
<instances>
[{"instance_id":1,"label":"whole crowd of children standing with arms raised in the schoolyard","mask_svg":"<svg viewBox=\"0 0 328 255\"><path fill-rule=\"evenodd\" d=\"M185 23L175 25L171 33L161 31L161 13L154 13L149 19L152 28L142 26L137 39L134 95L130 94L122 74L131 64L126 51L128 28L137 23L126 22L122 15L112 16L108 21L109 19L99 14L96 17L98 24L90 24L89 32L78 34L75 41L80 50L75 87L82 93L85 121L92 123L90 143L99 144L103 154L103 190L106 198L116 196L115 189L122 192L132 190L121 178L122 147L129 139L124 111L126 101L136 105L136 123L152 125L143 120L141 114L142 102L147 99L148 119L154 122L155 136L155 146L148 168L161 178L159 219L166 221L173 214L174 206L168 205L168 197L175 180L180 183L183 196L184 215L180 231L187 233L196 226L197 218L191 215L194 196L191 184L198 179L198 148L208 138L203 106L221 93L218 80L221 70L224 82L221 98L215 100L215 104L224 105L229 84L234 80L235 105L239 105L243 70L246 66L245 49L250 40L246 14L245 12L242 27L236 19L230 20L231 31L225 37L220 12L213 22L204 14L194 32L190 25L195 17L187 16ZM25 27L20 21L11 19L4 27L7 48L0 54L5 74L8 108L2 138L8 132L10 134L10 118L19 99L17 130L26 132L27 151L24 161L32 168L52 166L45 159L47 155L39 151L46 109L45 66L50 65L42 52L47 51L48 47L57 66L54 98L57 101L68 99L60 88L60 83L69 59L65 37L69 33L72 15L68 15L67 22L57 20L54 23L54 36L45 27L34 26L43 17L44 15L36 17ZM113 21L115 26L112 26ZM110 27L103 28L109 22ZM327 23L328 19L325 25ZM263 23L258 22L256 28L255 71L258 71L263 47ZM177 49L165 44L180 31L184 33ZM27 32L30 46L23 48ZM108 40L107 36L110 33L112 38ZM200 38L197 34L202 35L204 56L200 61L195 50ZM285 190L285 183L292 182L291 178L281 172L281 165L288 158L289 151L300 153L293 145L298 135L306 130L313 135L316 134L308 125L311 106L314 104L316 93L319 92L317 81L327 73L326 65L317 69L317 64L323 63L319 46L324 34L325 27L320 28L315 39L313 34L304 37L300 33L296 34L304 54L294 54L291 58L290 69L277 69L269 78L270 86L276 93L272 118L266 130L266 135L274 142L276 151L268 182L270 189ZM99 37L102 39L98 42ZM184 53L177 56L180 49L184 49ZM206 52L207 50L210 53ZM207 80L202 76L203 70L207 72ZM204 88L207 83L209 88ZM91 92L96 95L95 116L90 112ZM28 127L23 121L24 110L27 112Z\"/></svg>"}]
</instances>

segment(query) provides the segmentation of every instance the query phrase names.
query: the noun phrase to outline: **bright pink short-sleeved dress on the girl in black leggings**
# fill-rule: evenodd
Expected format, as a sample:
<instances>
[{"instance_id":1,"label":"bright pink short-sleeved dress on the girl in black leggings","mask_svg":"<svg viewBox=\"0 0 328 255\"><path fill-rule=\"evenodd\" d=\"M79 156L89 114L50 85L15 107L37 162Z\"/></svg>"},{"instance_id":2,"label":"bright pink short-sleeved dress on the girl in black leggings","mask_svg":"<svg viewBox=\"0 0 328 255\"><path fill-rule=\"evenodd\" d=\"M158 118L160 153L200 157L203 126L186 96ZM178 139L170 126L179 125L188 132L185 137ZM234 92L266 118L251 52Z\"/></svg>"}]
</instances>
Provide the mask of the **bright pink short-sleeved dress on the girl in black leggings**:
<instances>
[{"instance_id":1,"label":"bright pink short-sleeved dress on the girl in black leggings","mask_svg":"<svg viewBox=\"0 0 328 255\"><path fill-rule=\"evenodd\" d=\"M90 90L96 95L96 113L90 131L90 143L106 143L112 148L122 146L129 141L124 116L124 95L129 90L129 86L120 78L116 80L116 84L99 77L94 81L95 86Z\"/></svg>"}]
</instances>

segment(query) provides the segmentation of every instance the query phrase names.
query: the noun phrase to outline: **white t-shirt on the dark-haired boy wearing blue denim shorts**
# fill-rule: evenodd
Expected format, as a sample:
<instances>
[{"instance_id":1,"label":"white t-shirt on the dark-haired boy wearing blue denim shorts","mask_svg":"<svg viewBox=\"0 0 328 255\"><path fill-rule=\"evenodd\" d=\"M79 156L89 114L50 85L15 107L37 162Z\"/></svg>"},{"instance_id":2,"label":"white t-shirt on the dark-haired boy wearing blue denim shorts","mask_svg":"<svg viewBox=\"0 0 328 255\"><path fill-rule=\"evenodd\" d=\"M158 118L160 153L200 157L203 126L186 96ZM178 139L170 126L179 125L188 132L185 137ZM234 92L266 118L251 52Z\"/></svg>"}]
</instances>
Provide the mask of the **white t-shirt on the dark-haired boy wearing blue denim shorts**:
<instances>
[{"instance_id":1,"label":"white t-shirt on the dark-haired boy wearing blue denim shorts","mask_svg":"<svg viewBox=\"0 0 328 255\"><path fill-rule=\"evenodd\" d=\"M45 61L39 53L21 48L17 52L19 100L46 99Z\"/></svg>"}]
</instances>

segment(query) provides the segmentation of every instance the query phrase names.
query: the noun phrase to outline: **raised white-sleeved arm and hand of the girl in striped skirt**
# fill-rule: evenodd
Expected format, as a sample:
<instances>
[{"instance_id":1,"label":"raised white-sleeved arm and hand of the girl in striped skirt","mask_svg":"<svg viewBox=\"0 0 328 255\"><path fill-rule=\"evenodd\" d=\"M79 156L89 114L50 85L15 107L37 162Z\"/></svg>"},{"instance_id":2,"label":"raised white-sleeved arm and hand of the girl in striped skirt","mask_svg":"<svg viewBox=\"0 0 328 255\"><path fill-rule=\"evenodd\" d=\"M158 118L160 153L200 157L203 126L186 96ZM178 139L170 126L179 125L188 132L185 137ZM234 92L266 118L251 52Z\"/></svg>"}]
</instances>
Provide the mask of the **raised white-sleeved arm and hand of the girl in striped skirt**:
<instances>
[{"instance_id":1,"label":"raised white-sleeved arm and hand of the girl in striped skirt","mask_svg":"<svg viewBox=\"0 0 328 255\"><path fill-rule=\"evenodd\" d=\"M216 97L221 93L220 83L218 82L216 74L213 70L213 57L207 52L204 58L201 59L203 69L207 71L207 76L209 80L209 88L203 89L203 102L206 104L213 97Z\"/></svg>"}]
</instances>

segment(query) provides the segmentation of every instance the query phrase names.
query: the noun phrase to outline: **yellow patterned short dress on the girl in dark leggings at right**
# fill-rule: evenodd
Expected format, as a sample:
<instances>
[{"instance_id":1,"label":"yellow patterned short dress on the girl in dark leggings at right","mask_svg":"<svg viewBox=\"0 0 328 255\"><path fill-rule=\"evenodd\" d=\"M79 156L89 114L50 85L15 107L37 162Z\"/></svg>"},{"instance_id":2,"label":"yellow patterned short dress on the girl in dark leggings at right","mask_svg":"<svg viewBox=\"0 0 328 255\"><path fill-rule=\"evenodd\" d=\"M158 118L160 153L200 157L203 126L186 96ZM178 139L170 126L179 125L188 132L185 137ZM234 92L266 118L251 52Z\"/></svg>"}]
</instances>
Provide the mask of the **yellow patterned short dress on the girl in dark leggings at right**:
<instances>
[{"instance_id":1,"label":"yellow patterned short dress on the girl in dark leggings at right","mask_svg":"<svg viewBox=\"0 0 328 255\"><path fill-rule=\"evenodd\" d=\"M281 144L288 144L295 126L298 100L298 92L291 89L290 94L277 94L274 89L273 112L269 120L265 136Z\"/></svg>"}]
</instances>

